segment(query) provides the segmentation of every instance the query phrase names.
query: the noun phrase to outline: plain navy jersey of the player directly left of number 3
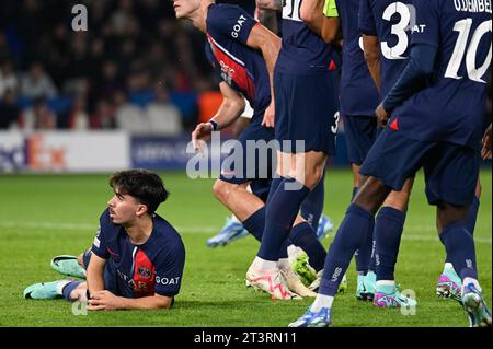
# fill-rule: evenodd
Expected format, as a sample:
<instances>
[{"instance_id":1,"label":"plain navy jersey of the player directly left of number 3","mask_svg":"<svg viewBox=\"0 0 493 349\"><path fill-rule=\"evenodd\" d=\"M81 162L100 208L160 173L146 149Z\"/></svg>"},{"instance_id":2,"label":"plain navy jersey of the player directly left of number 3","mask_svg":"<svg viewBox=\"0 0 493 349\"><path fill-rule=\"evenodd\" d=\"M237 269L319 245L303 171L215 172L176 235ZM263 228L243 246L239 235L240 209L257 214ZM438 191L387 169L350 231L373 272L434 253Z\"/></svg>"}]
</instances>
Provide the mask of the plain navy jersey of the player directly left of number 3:
<instances>
[{"instance_id":1,"label":"plain navy jersey of the player directly left of number 3","mask_svg":"<svg viewBox=\"0 0 493 349\"><path fill-rule=\"evenodd\" d=\"M336 0L344 35L341 75L341 113L375 115L379 95L363 55L358 30L359 0Z\"/></svg>"}]
</instances>

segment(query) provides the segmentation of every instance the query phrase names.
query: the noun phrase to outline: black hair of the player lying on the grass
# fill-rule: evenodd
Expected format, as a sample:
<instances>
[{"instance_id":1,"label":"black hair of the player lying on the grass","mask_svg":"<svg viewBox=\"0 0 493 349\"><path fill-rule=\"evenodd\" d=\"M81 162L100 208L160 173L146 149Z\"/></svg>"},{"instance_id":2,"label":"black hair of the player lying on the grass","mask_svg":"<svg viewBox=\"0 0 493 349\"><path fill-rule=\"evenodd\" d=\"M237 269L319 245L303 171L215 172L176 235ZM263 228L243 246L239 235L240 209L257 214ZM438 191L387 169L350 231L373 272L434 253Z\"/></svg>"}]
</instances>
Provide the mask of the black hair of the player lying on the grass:
<instances>
[{"instance_id":1,"label":"black hair of the player lying on the grass","mask_svg":"<svg viewBox=\"0 0 493 349\"><path fill-rule=\"evenodd\" d=\"M147 170L127 170L113 174L110 186L123 195L129 195L147 206L149 214L168 199L170 193L156 173Z\"/></svg>"}]
</instances>

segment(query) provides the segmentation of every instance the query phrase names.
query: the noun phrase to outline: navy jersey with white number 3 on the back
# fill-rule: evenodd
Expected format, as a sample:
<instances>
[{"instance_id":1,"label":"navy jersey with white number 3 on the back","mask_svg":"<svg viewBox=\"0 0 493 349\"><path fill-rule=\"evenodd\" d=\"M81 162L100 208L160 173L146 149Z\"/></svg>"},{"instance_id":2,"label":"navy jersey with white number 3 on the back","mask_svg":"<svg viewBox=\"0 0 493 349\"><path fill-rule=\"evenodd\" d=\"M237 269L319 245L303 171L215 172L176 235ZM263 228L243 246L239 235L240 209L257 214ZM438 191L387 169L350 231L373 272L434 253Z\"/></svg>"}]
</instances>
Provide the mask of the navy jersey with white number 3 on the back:
<instances>
[{"instance_id":1,"label":"navy jersey with white number 3 on the back","mask_svg":"<svg viewBox=\"0 0 493 349\"><path fill-rule=\"evenodd\" d=\"M360 0L359 31L380 42L381 97L392 89L408 63L411 30L415 27L412 0Z\"/></svg>"}]
</instances>

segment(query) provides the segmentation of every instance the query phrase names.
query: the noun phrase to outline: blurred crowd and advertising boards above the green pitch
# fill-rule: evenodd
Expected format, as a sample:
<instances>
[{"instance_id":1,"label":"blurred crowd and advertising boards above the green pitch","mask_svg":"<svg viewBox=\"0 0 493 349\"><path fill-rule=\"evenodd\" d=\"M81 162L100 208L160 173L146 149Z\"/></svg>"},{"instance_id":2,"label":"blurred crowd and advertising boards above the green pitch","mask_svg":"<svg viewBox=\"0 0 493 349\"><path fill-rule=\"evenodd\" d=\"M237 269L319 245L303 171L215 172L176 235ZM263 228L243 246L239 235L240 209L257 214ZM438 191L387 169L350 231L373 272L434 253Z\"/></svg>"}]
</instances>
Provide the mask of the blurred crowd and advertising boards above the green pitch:
<instances>
[{"instance_id":1,"label":"blurred crowd and advertising boards above the green pitch","mask_svg":"<svg viewBox=\"0 0 493 349\"><path fill-rule=\"evenodd\" d=\"M71 27L78 3L87 32ZM169 0L3 0L0 173L184 168L190 131L221 102L204 44Z\"/></svg>"}]
</instances>

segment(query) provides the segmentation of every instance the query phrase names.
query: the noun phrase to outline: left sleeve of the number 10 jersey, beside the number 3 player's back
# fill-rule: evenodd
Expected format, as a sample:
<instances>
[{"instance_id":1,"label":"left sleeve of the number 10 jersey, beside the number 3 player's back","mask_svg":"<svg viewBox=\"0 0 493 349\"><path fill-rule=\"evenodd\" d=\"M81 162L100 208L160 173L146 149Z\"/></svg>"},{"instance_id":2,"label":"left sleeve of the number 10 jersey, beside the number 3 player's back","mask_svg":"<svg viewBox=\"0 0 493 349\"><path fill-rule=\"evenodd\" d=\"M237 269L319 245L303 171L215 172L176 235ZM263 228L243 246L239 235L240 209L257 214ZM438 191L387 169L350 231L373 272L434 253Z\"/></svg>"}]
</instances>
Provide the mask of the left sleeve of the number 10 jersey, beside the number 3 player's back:
<instances>
[{"instance_id":1,"label":"left sleeve of the number 10 jersey, beside the number 3 player's back","mask_svg":"<svg viewBox=\"0 0 493 349\"><path fill-rule=\"evenodd\" d=\"M416 24L422 31L413 32L411 45L426 44L438 47L440 37L440 1L414 0L416 9Z\"/></svg>"}]
</instances>

